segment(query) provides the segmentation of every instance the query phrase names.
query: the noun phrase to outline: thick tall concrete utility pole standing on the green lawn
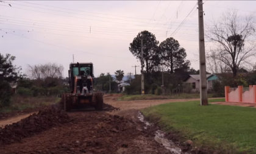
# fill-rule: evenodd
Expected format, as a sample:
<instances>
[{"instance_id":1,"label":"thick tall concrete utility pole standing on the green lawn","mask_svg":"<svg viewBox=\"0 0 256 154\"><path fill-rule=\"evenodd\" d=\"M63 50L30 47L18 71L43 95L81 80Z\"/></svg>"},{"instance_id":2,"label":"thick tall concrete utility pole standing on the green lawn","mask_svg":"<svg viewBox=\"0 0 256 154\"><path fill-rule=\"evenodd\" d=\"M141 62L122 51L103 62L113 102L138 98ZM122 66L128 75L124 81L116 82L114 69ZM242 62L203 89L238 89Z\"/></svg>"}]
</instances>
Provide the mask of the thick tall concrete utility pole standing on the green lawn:
<instances>
[{"instance_id":1,"label":"thick tall concrete utility pole standing on the green lawn","mask_svg":"<svg viewBox=\"0 0 256 154\"><path fill-rule=\"evenodd\" d=\"M205 65L205 44L204 44L204 11L202 0L198 0L198 22L199 22L199 63L200 63L200 100L201 105L208 105L207 79Z\"/></svg>"}]
</instances>

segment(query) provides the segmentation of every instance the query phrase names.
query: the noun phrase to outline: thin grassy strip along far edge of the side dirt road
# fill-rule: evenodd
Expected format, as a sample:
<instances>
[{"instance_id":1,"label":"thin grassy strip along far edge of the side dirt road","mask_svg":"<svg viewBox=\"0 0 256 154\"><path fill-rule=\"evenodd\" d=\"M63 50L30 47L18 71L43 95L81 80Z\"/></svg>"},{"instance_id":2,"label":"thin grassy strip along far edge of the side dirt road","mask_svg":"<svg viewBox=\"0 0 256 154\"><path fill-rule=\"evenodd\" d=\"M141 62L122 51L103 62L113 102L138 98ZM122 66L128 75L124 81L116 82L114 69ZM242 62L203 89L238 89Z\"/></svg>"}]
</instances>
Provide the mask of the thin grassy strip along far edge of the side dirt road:
<instances>
[{"instance_id":1,"label":"thin grassy strip along far edge of the side dirt road","mask_svg":"<svg viewBox=\"0 0 256 154\"><path fill-rule=\"evenodd\" d=\"M213 94L208 94L208 98L212 98ZM118 98L118 100L157 100L157 99L199 99L200 94L175 94L172 96L157 96L153 94L141 95L124 95Z\"/></svg>"}]
</instances>

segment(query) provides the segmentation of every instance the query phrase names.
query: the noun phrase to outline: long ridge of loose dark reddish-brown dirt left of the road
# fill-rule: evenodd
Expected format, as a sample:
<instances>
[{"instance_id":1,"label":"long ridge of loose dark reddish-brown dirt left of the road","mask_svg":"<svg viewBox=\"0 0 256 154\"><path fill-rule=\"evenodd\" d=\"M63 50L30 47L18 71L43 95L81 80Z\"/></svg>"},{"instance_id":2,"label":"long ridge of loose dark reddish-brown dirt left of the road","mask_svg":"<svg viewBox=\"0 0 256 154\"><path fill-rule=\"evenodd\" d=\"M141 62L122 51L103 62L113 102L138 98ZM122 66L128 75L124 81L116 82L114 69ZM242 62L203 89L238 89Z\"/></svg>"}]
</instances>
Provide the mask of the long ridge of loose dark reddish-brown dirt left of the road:
<instances>
[{"instance_id":1,"label":"long ridge of loose dark reddish-brown dirt left of the road","mask_svg":"<svg viewBox=\"0 0 256 154\"><path fill-rule=\"evenodd\" d=\"M32 114L21 121L0 128L0 145L19 142L21 139L48 130L56 125L69 122L69 116L57 107L43 108L38 114Z\"/></svg>"}]
</instances>

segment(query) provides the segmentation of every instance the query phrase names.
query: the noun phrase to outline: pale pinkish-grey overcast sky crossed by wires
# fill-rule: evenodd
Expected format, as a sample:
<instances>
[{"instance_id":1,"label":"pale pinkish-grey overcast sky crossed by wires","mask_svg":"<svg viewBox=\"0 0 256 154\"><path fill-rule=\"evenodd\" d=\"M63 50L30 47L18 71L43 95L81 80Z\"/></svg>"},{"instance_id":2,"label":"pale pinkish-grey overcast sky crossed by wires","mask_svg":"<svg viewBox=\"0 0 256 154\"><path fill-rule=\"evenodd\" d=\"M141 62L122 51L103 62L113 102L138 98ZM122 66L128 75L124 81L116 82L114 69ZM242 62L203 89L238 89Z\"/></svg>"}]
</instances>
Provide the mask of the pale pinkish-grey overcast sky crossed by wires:
<instances>
[{"instance_id":1,"label":"pale pinkish-grey overcast sky crossed by wires","mask_svg":"<svg viewBox=\"0 0 256 154\"><path fill-rule=\"evenodd\" d=\"M256 1L204 1L210 24L229 8L246 15ZM10 5L12 7L10 7ZM197 1L3 1L0 2L0 53L16 56L15 65L92 62L94 75L121 69L135 74L140 65L129 51L138 32L149 30L159 42L173 37L199 69ZM181 24L184 22L183 24ZM6 33L7 32L7 33ZM210 43L205 43L206 49ZM137 68L140 72L140 68Z\"/></svg>"}]
</instances>

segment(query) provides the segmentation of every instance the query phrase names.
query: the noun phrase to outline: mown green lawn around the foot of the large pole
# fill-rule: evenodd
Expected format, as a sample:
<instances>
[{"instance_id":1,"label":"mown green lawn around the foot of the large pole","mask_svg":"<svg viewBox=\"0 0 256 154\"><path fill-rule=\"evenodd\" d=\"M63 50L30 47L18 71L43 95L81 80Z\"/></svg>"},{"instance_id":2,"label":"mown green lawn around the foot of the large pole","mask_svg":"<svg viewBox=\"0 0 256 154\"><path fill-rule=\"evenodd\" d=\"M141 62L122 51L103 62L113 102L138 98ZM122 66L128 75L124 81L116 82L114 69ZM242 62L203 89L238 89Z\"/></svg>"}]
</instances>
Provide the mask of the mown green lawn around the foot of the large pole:
<instances>
[{"instance_id":1,"label":"mown green lawn around the foot of the large pole","mask_svg":"<svg viewBox=\"0 0 256 154\"><path fill-rule=\"evenodd\" d=\"M224 99L212 99L219 102ZM161 104L141 111L165 131L178 132L184 141L221 149L223 153L256 153L256 109L199 101Z\"/></svg>"}]
</instances>

